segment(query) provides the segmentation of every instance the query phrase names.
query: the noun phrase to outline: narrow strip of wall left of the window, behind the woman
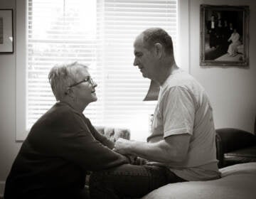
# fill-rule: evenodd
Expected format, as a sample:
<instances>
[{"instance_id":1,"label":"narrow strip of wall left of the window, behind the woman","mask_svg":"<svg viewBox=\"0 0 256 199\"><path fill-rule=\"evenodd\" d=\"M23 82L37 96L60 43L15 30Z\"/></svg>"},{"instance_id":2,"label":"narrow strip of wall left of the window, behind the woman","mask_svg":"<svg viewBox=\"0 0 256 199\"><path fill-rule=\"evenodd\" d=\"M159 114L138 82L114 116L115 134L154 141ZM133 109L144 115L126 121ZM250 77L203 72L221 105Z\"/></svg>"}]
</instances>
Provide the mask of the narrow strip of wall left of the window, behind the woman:
<instances>
[{"instance_id":1,"label":"narrow strip of wall left of the window, behind the woman","mask_svg":"<svg viewBox=\"0 0 256 199\"><path fill-rule=\"evenodd\" d=\"M16 1L1 0L0 9L14 9L16 38ZM14 43L15 45L15 43ZM4 181L21 144L15 142L16 124L16 46L14 54L0 55L0 195Z\"/></svg>"}]
</instances>

